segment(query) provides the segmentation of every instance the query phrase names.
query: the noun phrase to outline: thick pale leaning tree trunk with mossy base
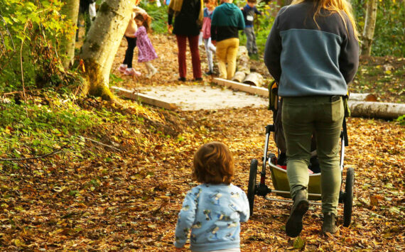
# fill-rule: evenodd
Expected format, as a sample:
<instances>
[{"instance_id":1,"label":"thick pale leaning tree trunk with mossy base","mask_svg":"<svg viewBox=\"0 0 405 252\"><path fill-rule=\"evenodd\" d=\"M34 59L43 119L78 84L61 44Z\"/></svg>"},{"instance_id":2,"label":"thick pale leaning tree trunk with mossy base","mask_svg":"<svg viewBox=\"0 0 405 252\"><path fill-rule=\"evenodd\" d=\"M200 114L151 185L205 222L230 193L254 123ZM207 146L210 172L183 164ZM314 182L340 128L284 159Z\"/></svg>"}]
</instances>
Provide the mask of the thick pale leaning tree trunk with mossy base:
<instances>
[{"instance_id":1,"label":"thick pale leaning tree trunk with mossy base","mask_svg":"<svg viewBox=\"0 0 405 252\"><path fill-rule=\"evenodd\" d=\"M84 94L113 100L109 90L109 72L128 25L135 0L105 0L97 12L82 46L80 58L85 63L87 83Z\"/></svg>"}]
</instances>

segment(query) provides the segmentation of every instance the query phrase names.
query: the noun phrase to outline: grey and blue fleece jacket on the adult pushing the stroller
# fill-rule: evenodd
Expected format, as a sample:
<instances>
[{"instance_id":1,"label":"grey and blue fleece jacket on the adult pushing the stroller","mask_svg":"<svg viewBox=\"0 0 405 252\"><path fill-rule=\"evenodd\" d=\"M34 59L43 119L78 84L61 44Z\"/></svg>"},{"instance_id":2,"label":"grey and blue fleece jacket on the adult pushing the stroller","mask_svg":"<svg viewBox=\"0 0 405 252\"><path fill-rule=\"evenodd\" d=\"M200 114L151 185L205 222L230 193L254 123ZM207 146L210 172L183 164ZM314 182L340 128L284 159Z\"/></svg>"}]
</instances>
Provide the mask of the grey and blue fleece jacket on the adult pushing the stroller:
<instances>
[{"instance_id":1,"label":"grey and blue fleece jacket on the adult pushing the stroller","mask_svg":"<svg viewBox=\"0 0 405 252\"><path fill-rule=\"evenodd\" d=\"M279 83L279 96L347 94L359 65L359 43L345 13L321 9L313 20L314 2L285 6L267 38L264 63ZM347 29L346 29L347 27Z\"/></svg>"}]
</instances>

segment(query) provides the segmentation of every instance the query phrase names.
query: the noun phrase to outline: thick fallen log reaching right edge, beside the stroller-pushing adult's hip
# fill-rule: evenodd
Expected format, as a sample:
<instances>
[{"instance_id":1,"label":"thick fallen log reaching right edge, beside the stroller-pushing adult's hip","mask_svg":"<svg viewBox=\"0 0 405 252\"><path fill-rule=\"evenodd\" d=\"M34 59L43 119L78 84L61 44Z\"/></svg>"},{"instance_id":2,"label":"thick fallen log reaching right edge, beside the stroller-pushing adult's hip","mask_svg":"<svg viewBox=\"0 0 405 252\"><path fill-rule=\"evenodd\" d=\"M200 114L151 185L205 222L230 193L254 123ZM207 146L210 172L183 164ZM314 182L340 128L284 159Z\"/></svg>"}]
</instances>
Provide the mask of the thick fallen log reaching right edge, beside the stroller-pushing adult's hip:
<instances>
[{"instance_id":1,"label":"thick fallen log reaching right edge, beside the stroller-pushing adult's hip","mask_svg":"<svg viewBox=\"0 0 405 252\"><path fill-rule=\"evenodd\" d=\"M350 97L352 95L350 94ZM352 116L396 119L405 114L405 104L391 102L360 102L349 99L347 102Z\"/></svg>"}]
</instances>

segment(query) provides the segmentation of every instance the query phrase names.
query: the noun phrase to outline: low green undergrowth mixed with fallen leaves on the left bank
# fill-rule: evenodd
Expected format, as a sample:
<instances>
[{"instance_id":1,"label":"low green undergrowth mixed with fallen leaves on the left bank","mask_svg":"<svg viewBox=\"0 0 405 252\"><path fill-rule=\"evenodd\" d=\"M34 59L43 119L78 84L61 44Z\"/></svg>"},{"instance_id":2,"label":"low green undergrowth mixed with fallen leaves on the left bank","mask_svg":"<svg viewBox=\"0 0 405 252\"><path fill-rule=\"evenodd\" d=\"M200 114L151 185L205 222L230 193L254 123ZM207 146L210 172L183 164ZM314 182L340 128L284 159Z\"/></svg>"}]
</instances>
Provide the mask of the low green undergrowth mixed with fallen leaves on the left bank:
<instances>
[{"instance_id":1,"label":"low green undergrowth mixed with fallen leaves on the left bank","mask_svg":"<svg viewBox=\"0 0 405 252\"><path fill-rule=\"evenodd\" d=\"M92 97L77 99L68 90L48 89L26 102L19 96L0 99L0 170L49 155L77 162L112 160L114 153L148 142L148 134L176 136L164 124L159 113L139 104L123 109Z\"/></svg>"}]
</instances>

